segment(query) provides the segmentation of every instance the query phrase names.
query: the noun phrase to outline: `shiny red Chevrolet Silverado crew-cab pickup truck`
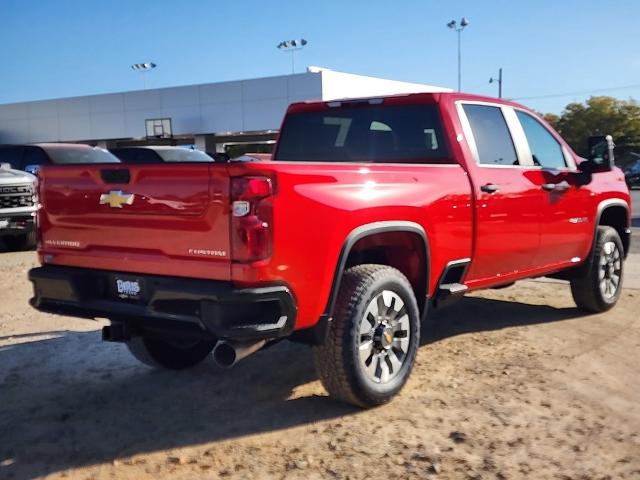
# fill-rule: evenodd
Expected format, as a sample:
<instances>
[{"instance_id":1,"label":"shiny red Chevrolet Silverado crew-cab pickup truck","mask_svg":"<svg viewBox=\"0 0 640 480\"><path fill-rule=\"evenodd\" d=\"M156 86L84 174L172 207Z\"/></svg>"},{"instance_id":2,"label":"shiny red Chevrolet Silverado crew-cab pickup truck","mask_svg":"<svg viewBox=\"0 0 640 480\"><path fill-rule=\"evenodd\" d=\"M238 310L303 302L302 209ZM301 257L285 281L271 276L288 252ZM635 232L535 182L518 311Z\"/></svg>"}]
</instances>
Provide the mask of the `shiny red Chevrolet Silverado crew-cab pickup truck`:
<instances>
[{"instance_id":1,"label":"shiny red Chevrolet Silverado crew-cab pickup truck","mask_svg":"<svg viewBox=\"0 0 640 480\"><path fill-rule=\"evenodd\" d=\"M576 156L527 108L423 93L291 105L272 159L46 166L39 310L103 317L150 365L314 345L360 406L407 381L429 308L542 275L617 301L630 198L611 145Z\"/></svg>"}]
</instances>

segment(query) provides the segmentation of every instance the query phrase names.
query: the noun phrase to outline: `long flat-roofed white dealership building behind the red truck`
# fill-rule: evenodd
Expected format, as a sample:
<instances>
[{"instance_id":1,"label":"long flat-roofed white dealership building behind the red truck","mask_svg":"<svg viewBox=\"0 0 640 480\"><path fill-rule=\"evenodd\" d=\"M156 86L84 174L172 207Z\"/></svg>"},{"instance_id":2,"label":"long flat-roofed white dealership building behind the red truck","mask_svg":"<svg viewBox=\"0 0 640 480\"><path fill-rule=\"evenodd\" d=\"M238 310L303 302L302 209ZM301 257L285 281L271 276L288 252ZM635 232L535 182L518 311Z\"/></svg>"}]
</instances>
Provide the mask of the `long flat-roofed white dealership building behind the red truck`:
<instances>
[{"instance_id":1,"label":"long flat-roofed white dealership building behind the red truck","mask_svg":"<svg viewBox=\"0 0 640 480\"><path fill-rule=\"evenodd\" d=\"M273 142L293 102L425 91L450 89L309 67L277 77L2 104L0 143L195 144L220 152Z\"/></svg>"}]
</instances>

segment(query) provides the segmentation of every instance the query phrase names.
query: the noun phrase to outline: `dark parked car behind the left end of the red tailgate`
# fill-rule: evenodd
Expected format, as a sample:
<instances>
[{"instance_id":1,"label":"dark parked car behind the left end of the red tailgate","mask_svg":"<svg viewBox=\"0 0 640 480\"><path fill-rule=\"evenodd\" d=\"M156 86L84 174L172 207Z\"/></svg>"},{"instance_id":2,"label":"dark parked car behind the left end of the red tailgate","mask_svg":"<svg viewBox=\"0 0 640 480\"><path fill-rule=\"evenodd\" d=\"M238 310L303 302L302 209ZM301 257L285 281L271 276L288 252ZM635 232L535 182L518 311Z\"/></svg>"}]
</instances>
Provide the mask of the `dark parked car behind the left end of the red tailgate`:
<instances>
[{"instance_id":1,"label":"dark parked car behind the left end of the red tailgate","mask_svg":"<svg viewBox=\"0 0 640 480\"><path fill-rule=\"evenodd\" d=\"M77 143L0 145L0 163L15 170L36 173L42 165L118 163L107 150Z\"/></svg>"}]
</instances>

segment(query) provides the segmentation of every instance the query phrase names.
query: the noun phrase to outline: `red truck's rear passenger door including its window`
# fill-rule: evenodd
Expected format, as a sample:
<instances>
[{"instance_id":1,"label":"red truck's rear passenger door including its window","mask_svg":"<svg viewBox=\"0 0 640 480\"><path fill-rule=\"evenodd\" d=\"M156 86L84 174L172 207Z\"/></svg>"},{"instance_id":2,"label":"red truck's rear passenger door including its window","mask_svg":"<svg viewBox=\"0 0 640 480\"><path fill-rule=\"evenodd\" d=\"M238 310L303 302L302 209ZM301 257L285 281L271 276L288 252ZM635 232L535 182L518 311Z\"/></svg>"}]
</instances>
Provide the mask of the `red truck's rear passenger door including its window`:
<instances>
[{"instance_id":1,"label":"red truck's rear passenger door including its window","mask_svg":"<svg viewBox=\"0 0 640 480\"><path fill-rule=\"evenodd\" d=\"M475 249L467 282L496 279L534 266L540 245L539 187L533 166L514 142L512 110L484 102L459 102L458 114L475 157L469 165L475 202Z\"/></svg>"}]
</instances>

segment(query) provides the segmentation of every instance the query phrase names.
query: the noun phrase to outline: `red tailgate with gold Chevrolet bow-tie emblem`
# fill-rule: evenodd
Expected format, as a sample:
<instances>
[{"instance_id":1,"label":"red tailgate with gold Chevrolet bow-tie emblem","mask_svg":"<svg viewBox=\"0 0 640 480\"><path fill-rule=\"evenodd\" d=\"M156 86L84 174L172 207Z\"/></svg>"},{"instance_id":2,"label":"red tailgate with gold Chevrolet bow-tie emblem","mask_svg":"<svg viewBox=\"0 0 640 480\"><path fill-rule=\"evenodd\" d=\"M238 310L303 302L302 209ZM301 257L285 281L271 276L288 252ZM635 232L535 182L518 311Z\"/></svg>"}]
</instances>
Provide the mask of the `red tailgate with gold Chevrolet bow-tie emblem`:
<instances>
[{"instance_id":1,"label":"red tailgate with gold Chevrolet bow-tie emblem","mask_svg":"<svg viewBox=\"0 0 640 480\"><path fill-rule=\"evenodd\" d=\"M78 165L40 172L44 263L228 280L225 165Z\"/></svg>"}]
</instances>

